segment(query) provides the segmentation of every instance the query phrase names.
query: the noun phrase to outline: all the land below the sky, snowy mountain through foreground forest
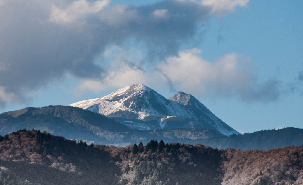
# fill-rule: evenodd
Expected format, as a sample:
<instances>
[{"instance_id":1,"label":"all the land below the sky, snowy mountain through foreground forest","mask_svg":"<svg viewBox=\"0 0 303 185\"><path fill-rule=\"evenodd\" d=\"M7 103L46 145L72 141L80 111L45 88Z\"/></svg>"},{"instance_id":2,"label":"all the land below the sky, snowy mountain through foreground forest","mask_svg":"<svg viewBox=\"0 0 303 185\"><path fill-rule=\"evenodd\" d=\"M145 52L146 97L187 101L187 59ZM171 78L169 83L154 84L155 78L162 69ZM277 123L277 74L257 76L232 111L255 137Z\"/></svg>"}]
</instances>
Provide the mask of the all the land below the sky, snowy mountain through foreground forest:
<instances>
[{"instance_id":1,"label":"all the land below the sky, snowy mountain through foreground forest","mask_svg":"<svg viewBox=\"0 0 303 185\"><path fill-rule=\"evenodd\" d=\"M241 135L142 84L71 105L0 114L0 184L303 184L303 129Z\"/></svg>"}]
</instances>

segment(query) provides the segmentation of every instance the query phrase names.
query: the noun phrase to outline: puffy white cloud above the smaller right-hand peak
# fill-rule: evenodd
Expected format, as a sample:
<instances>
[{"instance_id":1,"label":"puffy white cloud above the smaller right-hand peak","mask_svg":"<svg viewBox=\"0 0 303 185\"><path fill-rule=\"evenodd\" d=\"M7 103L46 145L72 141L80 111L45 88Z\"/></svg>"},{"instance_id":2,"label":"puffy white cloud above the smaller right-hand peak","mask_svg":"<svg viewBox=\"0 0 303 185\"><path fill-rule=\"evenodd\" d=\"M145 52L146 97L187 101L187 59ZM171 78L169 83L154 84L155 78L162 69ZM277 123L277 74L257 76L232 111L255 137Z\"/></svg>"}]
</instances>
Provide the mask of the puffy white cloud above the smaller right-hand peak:
<instances>
[{"instance_id":1,"label":"puffy white cloud above the smaller right-hand peak","mask_svg":"<svg viewBox=\"0 0 303 185\"><path fill-rule=\"evenodd\" d=\"M181 89L205 95L230 94L253 79L250 73L239 69L239 63L247 62L241 61L247 59L239 54L226 54L212 63L199 57L200 53L197 48L181 51L160 63L158 69Z\"/></svg>"}]
</instances>

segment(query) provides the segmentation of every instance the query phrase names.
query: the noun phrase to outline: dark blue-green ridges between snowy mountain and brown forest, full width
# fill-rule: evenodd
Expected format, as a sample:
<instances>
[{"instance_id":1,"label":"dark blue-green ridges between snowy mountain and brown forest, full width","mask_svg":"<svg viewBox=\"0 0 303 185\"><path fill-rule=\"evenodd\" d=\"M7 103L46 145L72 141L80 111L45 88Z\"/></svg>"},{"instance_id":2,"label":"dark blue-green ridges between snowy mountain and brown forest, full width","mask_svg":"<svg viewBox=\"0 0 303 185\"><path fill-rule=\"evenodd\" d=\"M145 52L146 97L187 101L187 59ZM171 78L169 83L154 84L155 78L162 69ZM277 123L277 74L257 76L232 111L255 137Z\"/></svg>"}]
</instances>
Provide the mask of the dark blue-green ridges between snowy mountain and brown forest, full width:
<instances>
[{"instance_id":1,"label":"dark blue-green ridges between snowy mountain and brown forest, full width","mask_svg":"<svg viewBox=\"0 0 303 185\"><path fill-rule=\"evenodd\" d=\"M88 144L128 146L147 144L150 140L165 143L204 144L213 148L270 149L303 144L303 129L284 128L258 131L251 134L225 136L203 128L158 128L138 130L101 114L72 106L25 108L0 114L0 135L17 130L36 129Z\"/></svg>"}]
</instances>

